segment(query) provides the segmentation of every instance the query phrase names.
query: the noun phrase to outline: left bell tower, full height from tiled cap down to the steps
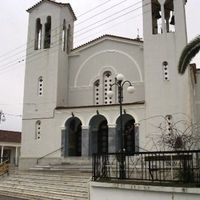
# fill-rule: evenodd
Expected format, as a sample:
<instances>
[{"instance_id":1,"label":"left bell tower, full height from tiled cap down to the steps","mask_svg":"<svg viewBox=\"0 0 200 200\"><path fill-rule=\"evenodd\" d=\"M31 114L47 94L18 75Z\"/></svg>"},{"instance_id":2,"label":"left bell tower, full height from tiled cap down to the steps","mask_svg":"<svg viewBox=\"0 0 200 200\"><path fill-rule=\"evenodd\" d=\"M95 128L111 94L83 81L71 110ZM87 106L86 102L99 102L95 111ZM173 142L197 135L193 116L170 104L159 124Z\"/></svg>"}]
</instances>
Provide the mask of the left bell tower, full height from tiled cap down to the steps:
<instances>
[{"instance_id":1,"label":"left bell tower, full height from tiled cap down to the steps","mask_svg":"<svg viewBox=\"0 0 200 200\"><path fill-rule=\"evenodd\" d=\"M76 17L69 4L42 0L29 13L20 167L58 148L54 111L68 103L68 59ZM27 162L27 158L32 158Z\"/></svg>"}]
</instances>

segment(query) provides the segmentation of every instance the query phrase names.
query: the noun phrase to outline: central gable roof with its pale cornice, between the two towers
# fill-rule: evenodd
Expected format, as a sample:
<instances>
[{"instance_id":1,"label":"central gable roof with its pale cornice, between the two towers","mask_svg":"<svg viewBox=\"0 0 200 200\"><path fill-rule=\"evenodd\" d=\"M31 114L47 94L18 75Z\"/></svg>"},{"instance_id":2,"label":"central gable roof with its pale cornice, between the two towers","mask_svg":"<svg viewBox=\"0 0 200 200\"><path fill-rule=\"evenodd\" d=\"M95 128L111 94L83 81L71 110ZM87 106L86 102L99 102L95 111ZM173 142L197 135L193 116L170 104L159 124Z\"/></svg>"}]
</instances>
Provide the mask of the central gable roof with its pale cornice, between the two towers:
<instances>
[{"instance_id":1,"label":"central gable roof with its pale cornice, between the two towers","mask_svg":"<svg viewBox=\"0 0 200 200\"><path fill-rule=\"evenodd\" d=\"M81 50L82 48L87 48L87 47L89 47L93 44L102 42L104 40L123 40L123 41L126 41L126 42L135 42L135 43L138 43L138 44L143 44L143 41L140 38L132 39L132 38L126 38L126 37L106 34L106 35L102 35L98 38L95 38L94 40L91 40L91 41L89 41L85 44L82 44L82 45L72 49L72 51Z\"/></svg>"}]
</instances>

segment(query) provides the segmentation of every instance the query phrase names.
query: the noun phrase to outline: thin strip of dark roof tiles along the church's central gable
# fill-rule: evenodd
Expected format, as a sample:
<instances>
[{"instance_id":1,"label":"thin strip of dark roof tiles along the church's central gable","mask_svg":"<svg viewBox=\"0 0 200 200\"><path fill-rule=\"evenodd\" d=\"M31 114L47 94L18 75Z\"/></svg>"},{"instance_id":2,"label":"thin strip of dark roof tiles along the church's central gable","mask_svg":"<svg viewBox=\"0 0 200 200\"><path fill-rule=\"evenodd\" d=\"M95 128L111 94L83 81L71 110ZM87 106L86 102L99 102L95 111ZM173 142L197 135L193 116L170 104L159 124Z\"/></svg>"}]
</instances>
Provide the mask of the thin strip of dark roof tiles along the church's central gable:
<instances>
[{"instance_id":1,"label":"thin strip of dark roof tiles along the church's central gable","mask_svg":"<svg viewBox=\"0 0 200 200\"><path fill-rule=\"evenodd\" d=\"M87 46L87 45L90 45L92 44L93 42L97 42L98 40L101 40L103 38L114 38L114 39L122 39L122 40L127 40L127 41L132 41L132 42L140 42L140 43L143 43L142 39L140 38L136 38L136 39L133 39L133 38L126 38L126 37L122 37L122 36L117 36L117 35L110 35L110 34L105 34L105 35L102 35L98 38L95 38L94 40L90 40L89 42L86 42L85 44L82 44L74 49L72 49L72 51L74 50L77 50L81 47L84 47L84 46Z\"/></svg>"}]
</instances>

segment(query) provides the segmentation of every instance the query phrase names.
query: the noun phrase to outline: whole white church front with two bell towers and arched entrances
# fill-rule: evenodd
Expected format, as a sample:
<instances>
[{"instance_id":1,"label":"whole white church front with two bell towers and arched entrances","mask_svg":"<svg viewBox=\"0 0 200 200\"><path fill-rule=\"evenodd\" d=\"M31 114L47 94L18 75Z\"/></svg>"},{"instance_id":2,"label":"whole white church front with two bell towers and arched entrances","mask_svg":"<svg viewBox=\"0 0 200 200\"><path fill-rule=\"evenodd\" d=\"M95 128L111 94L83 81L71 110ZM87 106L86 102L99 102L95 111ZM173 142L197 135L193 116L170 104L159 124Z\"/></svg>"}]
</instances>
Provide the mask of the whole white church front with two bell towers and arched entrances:
<instances>
[{"instance_id":1,"label":"whole white church front with two bell towers and arched entrances","mask_svg":"<svg viewBox=\"0 0 200 200\"><path fill-rule=\"evenodd\" d=\"M20 167L118 152L118 91L123 74L135 87L123 98L124 148L154 149L163 120L195 121L191 74L179 75L186 45L185 0L144 0L144 41L104 35L73 48L76 16L69 4L42 0L30 9ZM150 11L150 12L149 12ZM167 130L166 130L167 131Z\"/></svg>"}]
</instances>

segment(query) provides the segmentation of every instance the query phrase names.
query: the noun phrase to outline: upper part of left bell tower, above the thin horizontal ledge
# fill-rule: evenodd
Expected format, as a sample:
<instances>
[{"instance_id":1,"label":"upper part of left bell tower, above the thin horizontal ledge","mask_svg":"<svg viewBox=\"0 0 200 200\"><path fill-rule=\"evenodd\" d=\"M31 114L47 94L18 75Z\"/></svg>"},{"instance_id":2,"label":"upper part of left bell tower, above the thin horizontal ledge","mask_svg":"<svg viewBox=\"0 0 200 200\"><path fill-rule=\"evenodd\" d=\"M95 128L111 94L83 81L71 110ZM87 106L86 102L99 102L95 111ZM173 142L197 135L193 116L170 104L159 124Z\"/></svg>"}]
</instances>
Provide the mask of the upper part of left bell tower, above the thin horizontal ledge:
<instances>
[{"instance_id":1,"label":"upper part of left bell tower, above the thin horizontal ledge","mask_svg":"<svg viewBox=\"0 0 200 200\"><path fill-rule=\"evenodd\" d=\"M69 4L42 0L27 10L24 116L52 116L68 102L68 56L76 17Z\"/></svg>"}]
</instances>

